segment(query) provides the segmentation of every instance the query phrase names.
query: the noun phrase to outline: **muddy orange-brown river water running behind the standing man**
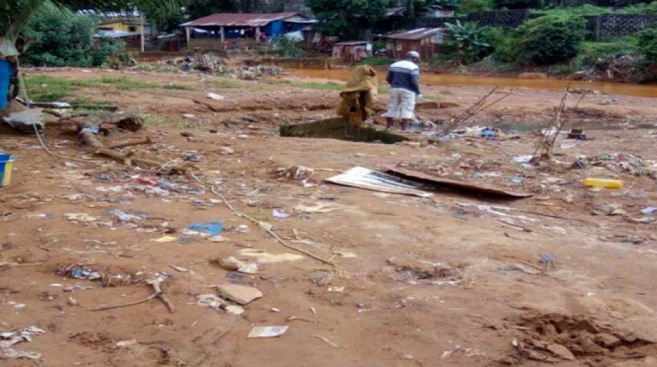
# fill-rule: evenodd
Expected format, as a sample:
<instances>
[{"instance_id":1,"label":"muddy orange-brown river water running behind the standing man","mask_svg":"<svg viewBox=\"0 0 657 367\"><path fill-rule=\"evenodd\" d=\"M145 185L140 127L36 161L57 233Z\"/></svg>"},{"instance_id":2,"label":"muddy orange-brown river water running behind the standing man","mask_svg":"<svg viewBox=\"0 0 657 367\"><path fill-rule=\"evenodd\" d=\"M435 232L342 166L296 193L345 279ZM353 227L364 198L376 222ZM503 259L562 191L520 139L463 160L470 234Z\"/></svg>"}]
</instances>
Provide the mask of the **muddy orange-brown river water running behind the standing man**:
<instances>
[{"instance_id":1,"label":"muddy orange-brown river water running behind the standing man","mask_svg":"<svg viewBox=\"0 0 657 367\"><path fill-rule=\"evenodd\" d=\"M291 69L294 75L309 78L322 78L329 80L346 81L349 78L349 70L329 69ZM385 78L385 72L379 73L380 79ZM571 83L571 88L588 88L601 91L610 95L633 95L636 97L657 97L657 84L623 84L623 83L601 83L580 82L576 80L558 79L518 79L499 78L475 75L444 75L422 73L422 84L429 86L501 86L505 88L531 88L549 91L563 90Z\"/></svg>"}]
</instances>

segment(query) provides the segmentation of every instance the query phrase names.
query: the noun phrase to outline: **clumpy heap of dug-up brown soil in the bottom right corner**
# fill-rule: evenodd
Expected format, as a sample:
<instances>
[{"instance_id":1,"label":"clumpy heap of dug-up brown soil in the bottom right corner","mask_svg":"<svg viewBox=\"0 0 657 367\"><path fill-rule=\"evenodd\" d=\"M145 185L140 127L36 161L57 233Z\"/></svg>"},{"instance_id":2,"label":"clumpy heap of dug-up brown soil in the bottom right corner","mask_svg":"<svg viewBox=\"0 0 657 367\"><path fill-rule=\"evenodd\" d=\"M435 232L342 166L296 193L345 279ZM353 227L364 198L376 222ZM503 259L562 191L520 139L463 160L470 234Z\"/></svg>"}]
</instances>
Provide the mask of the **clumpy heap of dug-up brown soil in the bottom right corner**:
<instances>
[{"instance_id":1,"label":"clumpy heap of dug-up brown soil in the bottom right corner","mask_svg":"<svg viewBox=\"0 0 657 367\"><path fill-rule=\"evenodd\" d=\"M657 352L652 340L588 316L548 313L523 316L517 324L515 328L524 333L513 342L518 355L504 359L502 364L518 365L523 359L531 359L549 363L577 360L588 366L606 366L610 358L640 359Z\"/></svg>"}]
</instances>

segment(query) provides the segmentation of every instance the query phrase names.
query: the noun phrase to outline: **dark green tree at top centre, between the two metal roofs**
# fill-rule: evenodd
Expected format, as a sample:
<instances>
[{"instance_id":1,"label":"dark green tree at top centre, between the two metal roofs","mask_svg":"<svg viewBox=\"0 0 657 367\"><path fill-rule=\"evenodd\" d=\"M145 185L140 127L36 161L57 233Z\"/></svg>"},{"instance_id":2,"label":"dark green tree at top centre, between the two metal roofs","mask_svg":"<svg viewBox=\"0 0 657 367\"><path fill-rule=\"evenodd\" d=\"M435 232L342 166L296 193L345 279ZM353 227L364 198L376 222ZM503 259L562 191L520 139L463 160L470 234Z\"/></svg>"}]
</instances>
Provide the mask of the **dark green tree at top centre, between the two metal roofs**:
<instances>
[{"instance_id":1,"label":"dark green tree at top centre, between the two metal roofs","mask_svg":"<svg viewBox=\"0 0 657 367\"><path fill-rule=\"evenodd\" d=\"M329 36L357 37L359 30L385 18L394 0L308 0L318 19L315 29Z\"/></svg>"}]
</instances>

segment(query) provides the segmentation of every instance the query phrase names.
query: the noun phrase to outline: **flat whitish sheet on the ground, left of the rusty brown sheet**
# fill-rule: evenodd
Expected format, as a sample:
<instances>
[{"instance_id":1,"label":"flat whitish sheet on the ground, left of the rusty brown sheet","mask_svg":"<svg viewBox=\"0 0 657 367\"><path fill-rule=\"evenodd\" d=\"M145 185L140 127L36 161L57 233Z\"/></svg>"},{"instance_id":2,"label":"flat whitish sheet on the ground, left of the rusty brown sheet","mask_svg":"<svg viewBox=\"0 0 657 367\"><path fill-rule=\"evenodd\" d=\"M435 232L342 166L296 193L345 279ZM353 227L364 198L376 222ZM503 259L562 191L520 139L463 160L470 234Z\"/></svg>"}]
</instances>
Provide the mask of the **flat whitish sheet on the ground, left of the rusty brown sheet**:
<instances>
[{"instance_id":1,"label":"flat whitish sheet on the ground, left of the rusty brown sheet","mask_svg":"<svg viewBox=\"0 0 657 367\"><path fill-rule=\"evenodd\" d=\"M327 178L326 181L337 185L360 187L361 189L386 193L420 196L420 198L429 198L433 196L432 193L422 191L421 189L423 189L424 186L417 182L404 180L365 167L353 167L344 171L342 174Z\"/></svg>"}]
</instances>

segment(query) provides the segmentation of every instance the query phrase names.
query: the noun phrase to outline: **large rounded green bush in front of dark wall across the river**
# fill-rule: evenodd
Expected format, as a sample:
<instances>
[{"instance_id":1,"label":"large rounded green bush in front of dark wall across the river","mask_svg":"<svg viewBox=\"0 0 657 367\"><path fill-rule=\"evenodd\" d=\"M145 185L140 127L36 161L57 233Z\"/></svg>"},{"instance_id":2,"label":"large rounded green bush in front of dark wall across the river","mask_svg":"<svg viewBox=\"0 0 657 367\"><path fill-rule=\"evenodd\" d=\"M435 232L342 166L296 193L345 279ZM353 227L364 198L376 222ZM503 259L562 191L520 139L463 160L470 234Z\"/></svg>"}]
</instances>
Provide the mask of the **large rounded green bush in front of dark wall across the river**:
<instances>
[{"instance_id":1,"label":"large rounded green bush in front of dark wall across the river","mask_svg":"<svg viewBox=\"0 0 657 367\"><path fill-rule=\"evenodd\" d=\"M514 51L521 64L551 65L571 60L584 40L586 21L575 16L546 15L516 29Z\"/></svg>"}]
</instances>

